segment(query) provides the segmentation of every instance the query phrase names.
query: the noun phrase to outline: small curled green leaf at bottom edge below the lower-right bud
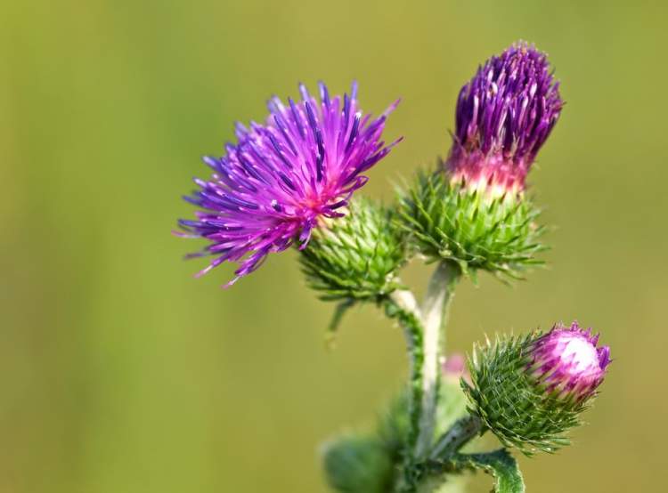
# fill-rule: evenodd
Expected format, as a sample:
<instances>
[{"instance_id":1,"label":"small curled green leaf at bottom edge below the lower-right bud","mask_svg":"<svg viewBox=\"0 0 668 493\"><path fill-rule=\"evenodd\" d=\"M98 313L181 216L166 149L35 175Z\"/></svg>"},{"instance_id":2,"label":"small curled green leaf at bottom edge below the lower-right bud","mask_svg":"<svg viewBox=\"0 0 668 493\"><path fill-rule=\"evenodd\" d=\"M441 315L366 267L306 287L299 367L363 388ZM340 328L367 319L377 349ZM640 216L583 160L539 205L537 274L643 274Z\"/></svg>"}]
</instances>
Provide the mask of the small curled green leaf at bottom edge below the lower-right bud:
<instances>
[{"instance_id":1,"label":"small curled green leaf at bottom edge below the lower-right bud","mask_svg":"<svg viewBox=\"0 0 668 493\"><path fill-rule=\"evenodd\" d=\"M517 466L517 460L508 450L499 449L486 454L458 454L454 462L463 467L484 469L496 478L496 493L524 493L525 482Z\"/></svg>"}]
</instances>

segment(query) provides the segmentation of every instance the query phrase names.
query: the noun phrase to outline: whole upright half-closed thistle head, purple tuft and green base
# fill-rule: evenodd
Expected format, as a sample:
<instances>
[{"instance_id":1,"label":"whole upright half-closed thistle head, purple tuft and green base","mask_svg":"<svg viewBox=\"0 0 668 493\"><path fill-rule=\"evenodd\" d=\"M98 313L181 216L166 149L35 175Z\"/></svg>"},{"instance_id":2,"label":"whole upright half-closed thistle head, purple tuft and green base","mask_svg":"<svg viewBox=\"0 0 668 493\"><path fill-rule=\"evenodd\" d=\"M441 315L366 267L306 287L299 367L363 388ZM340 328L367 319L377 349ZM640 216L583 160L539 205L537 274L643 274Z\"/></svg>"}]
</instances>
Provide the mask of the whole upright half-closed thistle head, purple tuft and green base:
<instances>
[{"instance_id":1,"label":"whole upright half-closed thistle head, purple tuft and green base","mask_svg":"<svg viewBox=\"0 0 668 493\"><path fill-rule=\"evenodd\" d=\"M510 277L541 263L540 211L525 178L562 108L544 53L519 43L461 88L448 158L404 193L403 223L423 255Z\"/></svg>"}]
</instances>

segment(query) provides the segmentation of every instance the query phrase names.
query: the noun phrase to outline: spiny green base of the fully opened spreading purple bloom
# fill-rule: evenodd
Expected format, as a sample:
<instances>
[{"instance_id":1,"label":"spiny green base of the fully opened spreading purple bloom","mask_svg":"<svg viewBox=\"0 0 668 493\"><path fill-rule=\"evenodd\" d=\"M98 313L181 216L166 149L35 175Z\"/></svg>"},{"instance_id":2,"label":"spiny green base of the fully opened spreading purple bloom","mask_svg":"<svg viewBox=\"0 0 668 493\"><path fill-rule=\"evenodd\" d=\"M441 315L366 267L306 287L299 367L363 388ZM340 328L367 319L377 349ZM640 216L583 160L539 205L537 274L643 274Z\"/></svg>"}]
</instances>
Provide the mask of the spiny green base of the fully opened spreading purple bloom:
<instances>
[{"instance_id":1,"label":"spiny green base of the fully opened spreading purple bloom","mask_svg":"<svg viewBox=\"0 0 668 493\"><path fill-rule=\"evenodd\" d=\"M399 287L405 262L403 232L394 213L358 199L345 217L316 228L301 263L310 287L325 300L379 301Z\"/></svg>"}]
</instances>

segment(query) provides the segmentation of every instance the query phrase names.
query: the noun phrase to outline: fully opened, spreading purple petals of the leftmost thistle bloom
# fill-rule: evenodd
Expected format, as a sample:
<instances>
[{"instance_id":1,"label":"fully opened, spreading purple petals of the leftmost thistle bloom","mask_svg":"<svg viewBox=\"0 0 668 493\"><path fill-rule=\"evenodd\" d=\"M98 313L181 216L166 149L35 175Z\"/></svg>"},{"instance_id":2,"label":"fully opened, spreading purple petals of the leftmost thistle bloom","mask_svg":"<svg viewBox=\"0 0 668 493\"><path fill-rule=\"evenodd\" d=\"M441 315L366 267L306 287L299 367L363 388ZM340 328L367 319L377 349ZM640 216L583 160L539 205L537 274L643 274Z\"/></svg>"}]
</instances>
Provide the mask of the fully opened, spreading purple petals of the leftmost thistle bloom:
<instances>
[{"instance_id":1,"label":"fully opened, spreading purple petals of the leftmost thistle bloom","mask_svg":"<svg viewBox=\"0 0 668 493\"><path fill-rule=\"evenodd\" d=\"M221 158L203 158L213 169L208 181L184 197L200 207L196 220L179 220L191 238L211 243L189 257L214 255L202 275L224 262L240 263L237 279L255 271L270 252L297 240L304 248L322 218L341 210L354 190L367 182L363 175L385 158L401 139L380 141L387 115L363 116L357 107L357 85L343 98L330 98L320 83L316 100L299 85L301 101L284 105L273 97L265 125L236 125L237 143L228 143Z\"/></svg>"}]
</instances>

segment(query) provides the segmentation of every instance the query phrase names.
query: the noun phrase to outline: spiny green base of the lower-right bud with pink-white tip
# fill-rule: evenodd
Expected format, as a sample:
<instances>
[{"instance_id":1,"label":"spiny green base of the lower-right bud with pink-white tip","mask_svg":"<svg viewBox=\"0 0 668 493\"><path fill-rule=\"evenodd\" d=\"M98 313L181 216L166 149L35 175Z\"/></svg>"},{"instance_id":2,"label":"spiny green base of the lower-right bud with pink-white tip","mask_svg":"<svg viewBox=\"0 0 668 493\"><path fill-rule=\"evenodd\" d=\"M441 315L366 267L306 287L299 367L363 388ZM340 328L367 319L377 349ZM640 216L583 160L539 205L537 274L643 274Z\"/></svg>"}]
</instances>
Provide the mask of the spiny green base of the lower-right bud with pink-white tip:
<instances>
[{"instance_id":1,"label":"spiny green base of the lower-right bud with pink-white tip","mask_svg":"<svg viewBox=\"0 0 668 493\"><path fill-rule=\"evenodd\" d=\"M469 411L507 447L525 455L536 451L554 452L568 445L565 433L580 424L586 404L559 399L545 392L527 371L530 344L541 333L523 337L497 336L492 343L476 345L468 361L472 385L461 386L471 403Z\"/></svg>"}]
</instances>

